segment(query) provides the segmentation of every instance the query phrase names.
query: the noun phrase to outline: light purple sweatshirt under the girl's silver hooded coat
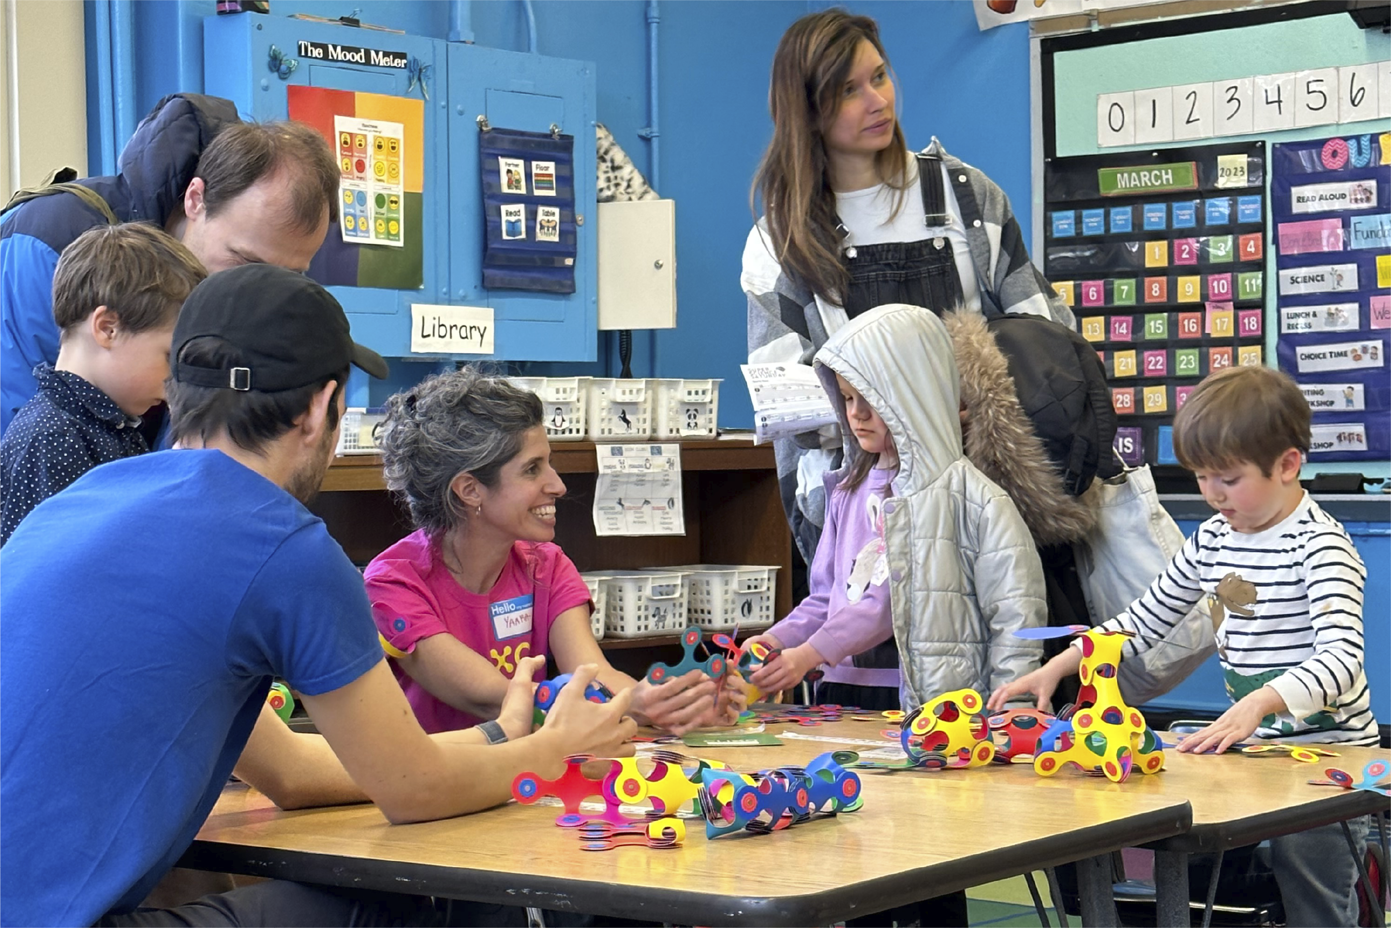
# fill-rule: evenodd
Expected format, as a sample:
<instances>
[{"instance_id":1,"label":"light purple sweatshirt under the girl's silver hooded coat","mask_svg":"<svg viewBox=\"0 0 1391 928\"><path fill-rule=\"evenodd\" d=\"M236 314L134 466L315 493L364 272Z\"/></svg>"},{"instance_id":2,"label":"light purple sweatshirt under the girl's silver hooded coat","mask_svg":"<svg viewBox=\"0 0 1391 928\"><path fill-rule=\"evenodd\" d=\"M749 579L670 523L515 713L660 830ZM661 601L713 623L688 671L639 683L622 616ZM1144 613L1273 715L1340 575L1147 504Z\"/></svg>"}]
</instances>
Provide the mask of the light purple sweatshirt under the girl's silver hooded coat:
<instances>
[{"instance_id":1,"label":"light purple sweatshirt under the girl's silver hooded coat","mask_svg":"<svg viewBox=\"0 0 1391 928\"><path fill-rule=\"evenodd\" d=\"M826 664L826 680L854 686L899 686L897 669L858 668L855 654L893 636L889 565L883 552L883 501L894 470L871 470L851 493L839 487L826 502L807 586L811 593L768 633L791 648L811 644Z\"/></svg>"}]
</instances>

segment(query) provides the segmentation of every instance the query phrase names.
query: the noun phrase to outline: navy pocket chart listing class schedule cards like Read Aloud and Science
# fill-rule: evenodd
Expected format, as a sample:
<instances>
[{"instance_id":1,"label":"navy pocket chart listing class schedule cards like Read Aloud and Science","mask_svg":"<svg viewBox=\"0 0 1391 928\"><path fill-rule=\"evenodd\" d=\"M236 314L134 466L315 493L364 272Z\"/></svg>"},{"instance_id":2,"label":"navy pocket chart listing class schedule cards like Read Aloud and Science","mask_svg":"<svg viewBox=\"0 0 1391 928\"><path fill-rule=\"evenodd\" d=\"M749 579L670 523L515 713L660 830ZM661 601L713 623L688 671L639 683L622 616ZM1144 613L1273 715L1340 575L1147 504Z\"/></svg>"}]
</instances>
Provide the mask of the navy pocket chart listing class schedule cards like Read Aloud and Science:
<instances>
[{"instance_id":1,"label":"navy pocket chart listing class schedule cards like Read Aloud and Science","mask_svg":"<svg viewBox=\"0 0 1391 928\"><path fill-rule=\"evenodd\" d=\"M1391 136L1273 145L1280 369L1313 408L1310 461L1391 458Z\"/></svg>"}]
</instances>

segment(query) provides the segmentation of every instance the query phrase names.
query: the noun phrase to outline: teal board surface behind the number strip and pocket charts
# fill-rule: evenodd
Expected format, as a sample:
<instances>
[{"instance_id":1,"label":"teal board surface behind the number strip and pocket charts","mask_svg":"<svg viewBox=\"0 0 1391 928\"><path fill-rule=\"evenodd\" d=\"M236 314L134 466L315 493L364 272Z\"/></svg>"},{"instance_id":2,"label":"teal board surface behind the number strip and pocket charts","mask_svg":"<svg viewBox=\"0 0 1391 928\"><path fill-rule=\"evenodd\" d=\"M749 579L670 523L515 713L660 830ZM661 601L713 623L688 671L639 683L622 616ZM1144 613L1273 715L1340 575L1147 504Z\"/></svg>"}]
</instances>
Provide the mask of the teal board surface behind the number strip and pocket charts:
<instances>
[{"instance_id":1,"label":"teal board surface behind the number strip and pocket charts","mask_svg":"<svg viewBox=\"0 0 1391 928\"><path fill-rule=\"evenodd\" d=\"M1180 145L1253 141L1264 141L1269 145L1330 136L1367 134L1377 136L1381 132L1391 132L1391 117L1378 115L1356 122L1306 125L1284 131L1253 128L1239 135L1206 135L1155 145L1099 143L1099 95L1391 63L1391 36L1377 29L1360 29L1342 6L1314 1L1042 39L1039 49L1045 161L1079 154L1139 153ZM1391 67L1377 71L1383 75L1377 88L1380 95L1391 96ZM1214 111L1217 106L1219 100L1214 99ZM1391 99L1381 100L1378 113L1391 113ZM1047 191L1034 192L1036 214L1043 210L1046 198ZM1266 213L1266 239L1271 242L1271 248L1266 249L1266 275L1267 281L1273 282L1277 249L1270 220L1271 210ZM1274 366L1280 330L1276 316L1278 294L1273 285L1267 285L1264 294L1264 359L1267 365ZM1316 462L1306 467L1305 476L1312 476L1313 472L1360 472L1369 477L1391 479L1391 462L1369 459L1344 463Z\"/></svg>"}]
</instances>

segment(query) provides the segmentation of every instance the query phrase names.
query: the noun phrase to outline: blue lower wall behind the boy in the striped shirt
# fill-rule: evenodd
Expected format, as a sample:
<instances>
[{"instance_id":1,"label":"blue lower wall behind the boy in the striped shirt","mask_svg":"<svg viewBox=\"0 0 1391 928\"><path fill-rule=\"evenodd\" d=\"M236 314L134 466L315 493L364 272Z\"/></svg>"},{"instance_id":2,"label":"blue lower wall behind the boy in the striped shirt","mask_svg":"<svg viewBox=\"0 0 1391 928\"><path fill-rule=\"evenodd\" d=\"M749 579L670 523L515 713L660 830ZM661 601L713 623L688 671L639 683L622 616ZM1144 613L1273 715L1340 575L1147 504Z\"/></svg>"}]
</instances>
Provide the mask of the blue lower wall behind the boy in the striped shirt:
<instances>
[{"instance_id":1,"label":"blue lower wall behind the boy in the striped shirt","mask_svg":"<svg viewBox=\"0 0 1391 928\"><path fill-rule=\"evenodd\" d=\"M1198 530L1198 522L1180 522L1184 536ZM1391 651L1391 576L1377 569L1391 563L1391 525L1377 522L1345 522L1344 527L1358 545L1358 554L1367 565L1367 586L1362 608L1366 647L1367 686L1372 687L1372 712L1383 725L1391 725L1391 668L1377 655ZM1221 712L1231 705L1223 689L1221 665L1212 657L1187 680L1152 703L1155 708L1202 710Z\"/></svg>"}]
</instances>

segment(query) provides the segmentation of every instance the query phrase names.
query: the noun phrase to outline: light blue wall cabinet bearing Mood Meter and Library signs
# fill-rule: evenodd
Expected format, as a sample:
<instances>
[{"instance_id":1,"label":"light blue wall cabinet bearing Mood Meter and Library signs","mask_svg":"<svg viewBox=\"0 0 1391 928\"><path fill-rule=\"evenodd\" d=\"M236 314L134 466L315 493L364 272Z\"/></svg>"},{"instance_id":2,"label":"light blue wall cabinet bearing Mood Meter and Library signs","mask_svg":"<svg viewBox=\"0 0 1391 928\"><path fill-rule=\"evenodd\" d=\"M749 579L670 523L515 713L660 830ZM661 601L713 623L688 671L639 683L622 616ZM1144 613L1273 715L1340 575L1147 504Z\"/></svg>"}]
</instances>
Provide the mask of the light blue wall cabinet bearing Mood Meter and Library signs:
<instances>
[{"instance_id":1,"label":"light blue wall cabinet bearing Mood Meter and Library signs","mask_svg":"<svg viewBox=\"0 0 1391 928\"><path fill-rule=\"evenodd\" d=\"M410 306L490 306L495 359L593 360L597 355L597 262L594 237L594 65L584 61L501 51L421 36L302 22L274 15L207 17L203 25L204 88L236 103L245 118L288 117L287 88L420 96L408 72L309 58L300 42L335 43L402 53L430 68L424 103L423 287L380 289L332 287L353 337L388 358L410 353ZM271 46L298 67L281 78L270 68ZM483 216L479 125L545 132L551 124L574 136L579 230L576 292L566 295L488 291L481 285ZM488 356L460 355L481 360Z\"/></svg>"}]
</instances>

